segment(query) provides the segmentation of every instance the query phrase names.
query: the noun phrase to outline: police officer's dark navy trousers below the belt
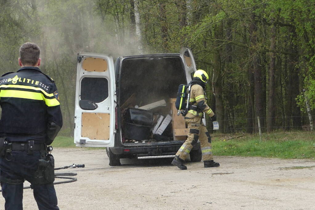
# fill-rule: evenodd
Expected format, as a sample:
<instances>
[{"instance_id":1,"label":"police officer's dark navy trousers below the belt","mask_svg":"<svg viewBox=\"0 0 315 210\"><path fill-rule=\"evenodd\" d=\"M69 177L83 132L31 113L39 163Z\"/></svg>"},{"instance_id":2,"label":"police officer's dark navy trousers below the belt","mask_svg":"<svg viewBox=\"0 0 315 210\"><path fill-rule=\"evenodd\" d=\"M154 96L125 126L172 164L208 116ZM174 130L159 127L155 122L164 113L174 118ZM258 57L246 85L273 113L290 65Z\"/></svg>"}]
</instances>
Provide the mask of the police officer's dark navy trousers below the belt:
<instances>
[{"instance_id":1,"label":"police officer's dark navy trousers below the belt","mask_svg":"<svg viewBox=\"0 0 315 210\"><path fill-rule=\"evenodd\" d=\"M34 177L41 154L40 151L34 151L33 155L27 154L26 151L12 151L11 154L7 155L6 158L0 158L0 175L20 183L8 184L1 182L2 195L5 198L6 210L20 210L23 209L23 182ZM38 209L59 209L53 183L43 185L31 183L31 188Z\"/></svg>"}]
</instances>

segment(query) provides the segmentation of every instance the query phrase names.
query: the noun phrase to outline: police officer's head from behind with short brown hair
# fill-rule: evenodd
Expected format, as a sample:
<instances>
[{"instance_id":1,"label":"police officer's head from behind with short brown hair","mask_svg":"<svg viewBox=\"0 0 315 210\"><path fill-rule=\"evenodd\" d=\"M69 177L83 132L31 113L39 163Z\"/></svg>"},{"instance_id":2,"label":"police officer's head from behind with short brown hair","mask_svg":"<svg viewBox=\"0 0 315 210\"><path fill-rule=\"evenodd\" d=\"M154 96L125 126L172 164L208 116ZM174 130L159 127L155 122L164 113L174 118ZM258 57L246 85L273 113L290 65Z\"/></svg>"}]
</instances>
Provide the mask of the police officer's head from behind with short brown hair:
<instances>
[{"instance_id":1,"label":"police officer's head from behind with short brown hair","mask_svg":"<svg viewBox=\"0 0 315 210\"><path fill-rule=\"evenodd\" d=\"M20 59L22 64L34 66L39 58L40 49L37 44L26 42L20 47Z\"/></svg>"}]
</instances>

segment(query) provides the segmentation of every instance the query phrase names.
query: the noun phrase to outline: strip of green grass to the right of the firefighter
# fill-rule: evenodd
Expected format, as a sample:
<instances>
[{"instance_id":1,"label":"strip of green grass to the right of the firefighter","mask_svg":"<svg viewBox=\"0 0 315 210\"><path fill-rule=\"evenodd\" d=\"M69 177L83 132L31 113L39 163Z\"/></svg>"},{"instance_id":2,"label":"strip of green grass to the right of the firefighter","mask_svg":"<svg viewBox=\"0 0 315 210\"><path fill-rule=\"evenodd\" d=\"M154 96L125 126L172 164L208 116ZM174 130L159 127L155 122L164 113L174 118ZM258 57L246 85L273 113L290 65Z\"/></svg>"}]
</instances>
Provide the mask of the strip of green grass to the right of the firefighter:
<instances>
[{"instance_id":1,"label":"strip of green grass to the right of the firefighter","mask_svg":"<svg viewBox=\"0 0 315 210\"><path fill-rule=\"evenodd\" d=\"M242 135L242 134L240 134ZM239 135L239 136L240 136ZM275 132L259 135L213 135L214 155L259 156L269 158L314 158L314 133L306 131ZM230 140L227 140L231 138Z\"/></svg>"}]
</instances>

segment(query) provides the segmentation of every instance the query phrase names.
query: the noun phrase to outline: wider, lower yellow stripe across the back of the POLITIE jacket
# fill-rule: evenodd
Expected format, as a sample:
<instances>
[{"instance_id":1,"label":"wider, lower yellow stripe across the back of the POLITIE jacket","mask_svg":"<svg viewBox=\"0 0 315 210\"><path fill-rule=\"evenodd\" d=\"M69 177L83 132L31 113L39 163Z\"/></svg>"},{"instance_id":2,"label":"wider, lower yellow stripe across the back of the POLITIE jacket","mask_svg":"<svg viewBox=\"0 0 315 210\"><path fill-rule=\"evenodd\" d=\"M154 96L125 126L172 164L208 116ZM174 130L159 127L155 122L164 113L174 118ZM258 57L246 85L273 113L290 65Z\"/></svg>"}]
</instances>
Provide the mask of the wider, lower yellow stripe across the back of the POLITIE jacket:
<instances>
[{"instance_id":1,"label":"wider, lower yellow stripe across the back of the POLITIE jacket","mask_svg":"<svg viewBox=\"0 0 315 210\"><path fill-rule=\"evenodd\" d=\"M54 95L54 94L53 94ZM1 97L14 97L14 98L25 98L44 101L45 104L49 107L60 105L60 102L56 98L48 99L39 92L30 92L30 91L20 91L20 90L1 90Z\"/></svg>"}]
</instances>

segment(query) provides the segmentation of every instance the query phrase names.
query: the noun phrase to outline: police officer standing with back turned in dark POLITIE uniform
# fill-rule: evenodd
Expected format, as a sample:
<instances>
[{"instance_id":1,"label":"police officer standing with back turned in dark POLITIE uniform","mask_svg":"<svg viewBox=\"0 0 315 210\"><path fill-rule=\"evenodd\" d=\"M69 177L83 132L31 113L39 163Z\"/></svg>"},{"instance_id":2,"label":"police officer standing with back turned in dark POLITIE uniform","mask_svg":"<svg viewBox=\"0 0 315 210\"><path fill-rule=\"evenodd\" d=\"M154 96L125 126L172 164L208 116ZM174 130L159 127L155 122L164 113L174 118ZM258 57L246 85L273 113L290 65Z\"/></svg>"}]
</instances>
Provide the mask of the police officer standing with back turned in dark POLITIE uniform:
<instances>
[{"instance_id":1,"label":"police officer standing with back turned in dark POLITIE uniform","mask_svg":"<svg viewBox=\"0 0 315 210\"><path fill-rule=\"evenodd\" d=\"M4 151L0 181L5 209L23 209L24 180L31 183L39 209L59 209L53 159L46 149L62 126L62 116L54 80L38 68L39 55L37 44L24 43L19 58L22 68L0 77L0 146Z\"/></svg>"}]
</instances>

